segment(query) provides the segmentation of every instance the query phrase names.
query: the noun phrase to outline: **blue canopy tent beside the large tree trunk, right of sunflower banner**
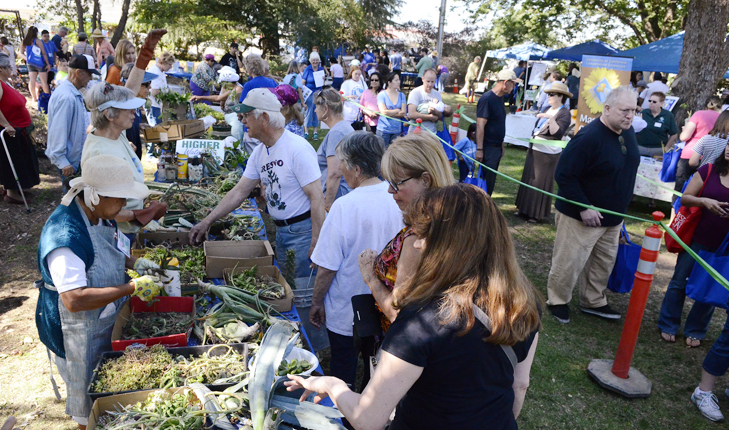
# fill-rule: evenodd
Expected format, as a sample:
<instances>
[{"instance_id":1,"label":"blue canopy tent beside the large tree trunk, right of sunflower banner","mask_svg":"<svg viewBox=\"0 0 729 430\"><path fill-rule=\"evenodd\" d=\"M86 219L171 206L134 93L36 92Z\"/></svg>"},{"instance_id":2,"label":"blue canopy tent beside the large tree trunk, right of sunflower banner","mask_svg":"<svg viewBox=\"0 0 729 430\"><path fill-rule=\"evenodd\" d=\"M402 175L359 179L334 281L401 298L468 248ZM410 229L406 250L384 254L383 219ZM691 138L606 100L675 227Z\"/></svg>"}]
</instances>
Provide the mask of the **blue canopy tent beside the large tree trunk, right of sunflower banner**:
<instances>
[{"instance_id":1,"label":"blue canopy tent beside the large tree trunk, right of sunflower banner","mask_svg":"<svg viewBox=\"0 0 729 430\"><path fill-rule=\"evenodd\" d=\"M683 31L647 45L628 49L622 57L634 57L633 70L644 72L678 73L683 52ZM729 71L724 75L729 78Z\"/></svg>"}]
</instances>

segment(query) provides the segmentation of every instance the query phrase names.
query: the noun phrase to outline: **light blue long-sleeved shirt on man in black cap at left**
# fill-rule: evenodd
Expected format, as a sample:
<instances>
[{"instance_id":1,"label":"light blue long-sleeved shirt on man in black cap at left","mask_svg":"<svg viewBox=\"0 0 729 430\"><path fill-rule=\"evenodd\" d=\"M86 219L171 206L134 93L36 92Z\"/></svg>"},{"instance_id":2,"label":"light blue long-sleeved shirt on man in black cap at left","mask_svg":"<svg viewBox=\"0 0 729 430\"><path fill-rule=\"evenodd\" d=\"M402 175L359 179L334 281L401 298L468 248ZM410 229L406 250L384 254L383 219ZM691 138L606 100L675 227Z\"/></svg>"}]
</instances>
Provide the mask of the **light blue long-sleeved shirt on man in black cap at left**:
<instances>
[{"instance_id":1,"label":"light blue long-sleeved shirt on man in black cap at left","mask_svg":"<svg viewBox=\"0 0 729 430\"><path fill-rule=\"evenodd\" d=\"M86 141L87 114L81 92L68 79L61 82L48 102L46 148L46 156L59 169L71 165L79 170Z\"/></svg>"}]
</instances>

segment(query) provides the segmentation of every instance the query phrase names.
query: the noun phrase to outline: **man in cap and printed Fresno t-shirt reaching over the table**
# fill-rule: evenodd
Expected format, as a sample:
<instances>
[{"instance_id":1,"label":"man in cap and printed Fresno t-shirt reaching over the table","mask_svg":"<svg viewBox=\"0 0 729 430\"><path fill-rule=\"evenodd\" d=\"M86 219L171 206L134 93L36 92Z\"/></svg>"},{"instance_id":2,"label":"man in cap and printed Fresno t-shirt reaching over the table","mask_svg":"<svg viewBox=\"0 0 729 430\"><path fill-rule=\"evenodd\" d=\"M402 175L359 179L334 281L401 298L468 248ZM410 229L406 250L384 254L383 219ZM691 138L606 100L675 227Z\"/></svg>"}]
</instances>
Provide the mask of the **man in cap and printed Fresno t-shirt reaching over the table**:
<instances>
[{"instance_id":1,"label":"man in cap and printed Fresno t-shirt reaching over the table","mask_svg":"<svg viewBox=\"0 0 729 430\"><path fill-rule=\"evenodd\" d=\"M286 253L296 253L295 278L310 277L309 256L314 251L324 222L321 171L314 148L284 129L281 103L268 88L251 90L243 103L233 107L248 126L258 145L238 184L220 204L190 230L190 241L200 243L210 226L237 209L260 182L266 187L268 213L276 224L276 259L283 264Z\"/></svg>"}]
</instances>

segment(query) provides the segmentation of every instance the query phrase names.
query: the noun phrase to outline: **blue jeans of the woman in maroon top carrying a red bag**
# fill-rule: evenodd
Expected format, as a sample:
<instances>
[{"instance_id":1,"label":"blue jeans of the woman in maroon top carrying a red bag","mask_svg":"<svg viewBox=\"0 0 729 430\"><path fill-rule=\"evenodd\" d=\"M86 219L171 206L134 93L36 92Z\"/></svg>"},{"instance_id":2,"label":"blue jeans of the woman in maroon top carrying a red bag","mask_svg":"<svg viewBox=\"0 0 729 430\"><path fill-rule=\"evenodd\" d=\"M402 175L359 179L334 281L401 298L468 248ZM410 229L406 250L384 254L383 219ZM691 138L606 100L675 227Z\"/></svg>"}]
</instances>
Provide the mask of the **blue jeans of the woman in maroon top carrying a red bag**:
<instances>
[{"instance_id":1,"label":"blue jeans of the woman in maroon top carrying a red bag","mask_svg":"<svg viewBox=\"0 0 729 430\"><path fill-rule=\"evenodd\" d=\"M694 242L691 249L696 252L707 250L706 247ZM686 300L686 283L691 270L694 268L694 259L688 252L680 252L676 259L676 269L673 272L671 282L668 283L666 296L661 305L661 314L658 317L658 328L663 333L678 333L681 326L681 314L683 303ZM686 337L703 339L709 329L711 317L714 314L714 307L706 303L694 302L691 307L686 323L683 326L683 334ZM726 330L726 328L725 328Z\"/></svg>"}]
</instances>

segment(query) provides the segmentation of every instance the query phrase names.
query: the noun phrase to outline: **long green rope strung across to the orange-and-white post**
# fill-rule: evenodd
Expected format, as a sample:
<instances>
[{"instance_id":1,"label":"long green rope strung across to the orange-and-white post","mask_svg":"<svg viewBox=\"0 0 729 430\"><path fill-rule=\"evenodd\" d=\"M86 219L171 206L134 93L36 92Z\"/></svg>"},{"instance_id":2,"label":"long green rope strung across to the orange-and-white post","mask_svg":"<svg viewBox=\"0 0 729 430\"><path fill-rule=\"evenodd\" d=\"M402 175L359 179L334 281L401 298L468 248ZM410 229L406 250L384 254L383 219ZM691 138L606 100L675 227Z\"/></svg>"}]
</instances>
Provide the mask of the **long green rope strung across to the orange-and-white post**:
<instances>
[{"instance_id":1,"label":"long green rope strung across to the orange-and-white post","mask_svg":"<svg viewBox=\"0 0 729 430\"><path fill-rule=\"evenodd\" d=\"M359 107L361 109L367 109L367 110L369 110L368 108L360 105L359 103L353 102L353 101L348 100L348 99L345 99L345 100L349 101L350 103L354 104L355 106L357 106L357 107ZM371 112L374 112L374 111L371 111ZM399 118L392 118L392 117L389 117L387 115L383 115L383 114L381 114L379 112L376 112L376 113L379 116L382 116L382 117L385 117L385 118L388 118L388 119L391 119L391 120L395 120L395 121L401 122L403 124L408 124L410 127L417 127L418 126L417 123L412 123L412 122L409 122L409 121L403 121L403 120L401 120ZM463 115L461 115L461 117L463 117ZM445 127L445 122L443 123L443 126ZM550 197L553 197L553 198L555 198L557 200L562 200L562 201L564 201L566 203L570 203L570 204L573 204L575 206L579 206L579 207L582 207L582 208L585 208L585 209L592 209L592 210L597 211L597 212L601 212L601 213L605 213L605 214L609 214L609 215L615 215L615 216L619 216L619 217L622 217L622 218L632 219L632 220L635 220L635 221L647 222L647 223L655 224L655 225L661 227L663 230L666 231L666 234L669 234L674 240L676 240L676 242L678 242L678 244L681 245L681 247L684 249L684 251L688 252L689 255L697 263L699 263L701 265L701 267L703 267L706 270L706 272L709 273L709 275L711 275L712 278L714 278L714 280L716 282L719 283L719 285L721 285L725 289L729 290L729 281L727 281L726 278L724 278L721 275L721 273L717 272L716 269L714 269L708 263L706 263L706 261L704 261L704 259L701 258L693 249L691 249L688 245L686 245L676 235L676 233L669 226L666 225L665 222L663 222L663 221L656 221L656 220L647 219L647 218L640 218L640 217L633 216L633 215L628 215L628 214L624 214L624 213L620 213L620 212L611 211L609 209L598 208L598 207L595 207L595 206L592 206L592 205L587 205L587 204L584 204L584 203L580 203L580 202L576 202L576 201L573 201L573 200L564 198L562 196L559 196L557 194L553 194L553 193L544 191L544 190L542 190L540 188L534 187L534 186L529 185L529 184L525 184L524 182L521 182L520 180L518 180L516 178L512 178L511 176L509 176L509 175L507 175L505 173L502 173L502 172L499 172L498 170L492 169L491 167L489 167L489 166L481 163L480 161L476 160L475 158L473 158L473 157L471 157L469 155L466 155L463 151L459 151L458 149L456 149L455 146L453 146L450 143L446 142L445 140L441 139L437 134L433 133L432 131L428 130L427 128L422 128L421 127L421 131L422 130L425 130L428 133L432 134L441 143L443 143L444 145L450 147L455 152L461 154L464 158L468 158L469 160L472 160L475 165L478 165L479 166L479 168L486 168L488 171L493 172L496 175L501 176L501 177L503 177L503 178L505 178L505 179L507 179L509 181L516 182L517 184L519 184L519 185L521 185L523 187L527 187L527 188L532 189L534 191L537 191L537 192L540 192L542 194L546 194L546 195L548 195ZM525 140L525 139L521 139L521 140ZM540 144L542 143L541 139L528 139L528 141L530 141L530 142L533 141L533 140L535 140L537 142L532 142L532 143L540 143ZM555 141L546 141L546 142L555 142ZM553 145L553 146L555 146L555 145ZM647 179L645 177L643 177L643 178L644 179ZM648 181L651 181L651 180L648 179ZM674 191L674 190L672 190L672 191Z\"/></svg>"}]
</instances>

